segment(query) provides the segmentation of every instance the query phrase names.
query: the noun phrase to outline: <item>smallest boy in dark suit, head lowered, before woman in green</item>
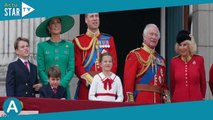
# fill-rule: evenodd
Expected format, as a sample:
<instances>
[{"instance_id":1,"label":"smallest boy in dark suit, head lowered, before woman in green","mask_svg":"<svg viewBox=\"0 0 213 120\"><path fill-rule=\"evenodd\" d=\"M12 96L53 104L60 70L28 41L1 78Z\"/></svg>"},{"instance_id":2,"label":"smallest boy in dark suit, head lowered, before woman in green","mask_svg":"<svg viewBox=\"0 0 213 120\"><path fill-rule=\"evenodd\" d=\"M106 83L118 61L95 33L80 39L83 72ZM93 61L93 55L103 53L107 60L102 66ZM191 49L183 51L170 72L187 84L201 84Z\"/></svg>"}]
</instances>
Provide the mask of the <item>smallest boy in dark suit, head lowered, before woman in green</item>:
<instances>
[{"instance_id":1,"label":"smallest boy in dark suit, head lowered, before woman in green","mask_svg":"<svg viewBox=\"0 0 213 120\"><path fill-rule=\"evenodd\" d=\"M58 67L53 66L48 70L48 84L43 85L39 90L41 98L58 98L66 99L66 89L60 86L61 71Z\"/></svg>"}]
</instances>

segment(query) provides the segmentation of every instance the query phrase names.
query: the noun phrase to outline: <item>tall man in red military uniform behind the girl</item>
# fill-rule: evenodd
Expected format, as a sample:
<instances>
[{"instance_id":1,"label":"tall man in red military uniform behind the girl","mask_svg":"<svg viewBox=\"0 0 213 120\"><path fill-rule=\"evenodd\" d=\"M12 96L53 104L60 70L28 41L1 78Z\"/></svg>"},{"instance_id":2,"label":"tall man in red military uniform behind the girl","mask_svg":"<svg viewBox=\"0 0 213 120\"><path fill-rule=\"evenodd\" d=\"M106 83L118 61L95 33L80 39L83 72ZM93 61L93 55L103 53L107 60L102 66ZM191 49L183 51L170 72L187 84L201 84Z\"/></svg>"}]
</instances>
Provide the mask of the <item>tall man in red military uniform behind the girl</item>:
<instances>
[{"instance_id":1,"label":"tall man in red military uniform behind the girl","mask_svg":"<svg viewBox=\"0 0 213 120\"><path fill-rule=\"evenodd\" d=\"M114 38L108 34L100 33L100 19L98 13L85 15L87 32L76 37L74 42L75 50L75 73L80 79L76 90L75 99L88 100L89 85L93 76L101 71L99 56L109 52L113 56L112 72L117 71L117 55Z\"/></svg>"}]
</instances>

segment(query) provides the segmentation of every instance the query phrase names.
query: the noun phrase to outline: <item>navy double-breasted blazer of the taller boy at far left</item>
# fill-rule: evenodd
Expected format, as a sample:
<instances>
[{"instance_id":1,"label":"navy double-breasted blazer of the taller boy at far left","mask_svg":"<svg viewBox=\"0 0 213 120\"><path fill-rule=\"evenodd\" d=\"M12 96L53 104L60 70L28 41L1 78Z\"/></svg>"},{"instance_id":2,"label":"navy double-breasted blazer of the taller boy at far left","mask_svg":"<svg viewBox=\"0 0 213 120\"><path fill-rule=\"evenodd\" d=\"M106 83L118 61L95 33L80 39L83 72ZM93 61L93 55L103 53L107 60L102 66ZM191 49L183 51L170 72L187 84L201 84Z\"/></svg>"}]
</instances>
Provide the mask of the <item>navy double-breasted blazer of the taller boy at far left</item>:
<instances>
[{"instance_id":1,"label":"navy double-breasted blazer of the taller boy at far left","mask_svg":"<svg viewBox=\"0 0 213 120\"><path fill-rule=\"evenodd\" d=\"M28 63L30 72L20 59L9 64L6 76L7 96L35 97L33 85L38 83L37 67Z\"/></svg>"}]
</instances>

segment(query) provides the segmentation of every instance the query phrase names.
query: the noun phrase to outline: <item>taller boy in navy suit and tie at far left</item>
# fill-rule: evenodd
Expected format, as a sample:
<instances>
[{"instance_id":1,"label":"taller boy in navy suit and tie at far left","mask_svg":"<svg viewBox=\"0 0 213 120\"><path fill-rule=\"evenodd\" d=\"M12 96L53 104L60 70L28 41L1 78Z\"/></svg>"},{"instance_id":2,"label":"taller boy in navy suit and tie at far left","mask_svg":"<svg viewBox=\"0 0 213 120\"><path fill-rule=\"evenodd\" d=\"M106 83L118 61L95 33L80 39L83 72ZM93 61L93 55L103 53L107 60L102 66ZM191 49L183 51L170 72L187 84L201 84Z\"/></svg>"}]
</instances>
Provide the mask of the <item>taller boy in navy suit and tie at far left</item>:
<instances>
[{"instance_id":1,"label":"taller boy in navy suit and tie at far left","mask_svg":"<svg viewBox=\"0 0 213 120\"><path fill-rule=\"evenodd\" d=\"M39 89L37 67L28 60L30 55L29 40L19 37L14 44L18 60L8 66L6 75L6 94L10 97L35 97Z\"/></svg>"}]
</instances>

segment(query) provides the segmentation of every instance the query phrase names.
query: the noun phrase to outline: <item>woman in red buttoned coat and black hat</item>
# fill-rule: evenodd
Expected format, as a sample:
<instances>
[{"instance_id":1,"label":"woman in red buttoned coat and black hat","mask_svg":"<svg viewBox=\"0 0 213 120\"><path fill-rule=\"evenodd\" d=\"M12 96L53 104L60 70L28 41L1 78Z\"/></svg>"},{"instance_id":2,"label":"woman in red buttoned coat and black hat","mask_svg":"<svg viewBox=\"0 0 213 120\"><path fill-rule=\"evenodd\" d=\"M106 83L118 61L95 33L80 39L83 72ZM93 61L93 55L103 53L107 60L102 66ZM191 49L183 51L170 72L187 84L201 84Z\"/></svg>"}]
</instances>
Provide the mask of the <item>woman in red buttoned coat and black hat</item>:
<instances>
[{"instance_id":1,"label":"woman in red buttoned coat and black hat","mask_svg":"<svg viewBox=\"0 0 213 120\"><path fill-rule=\"evenodd\" d=\"M197 46L188 31L182 30L176 38L175 51L179 54L171 60L170 87L172 102L203 100L206 93L204 59L195 55Z\"/></svg>"}]
</instances>

